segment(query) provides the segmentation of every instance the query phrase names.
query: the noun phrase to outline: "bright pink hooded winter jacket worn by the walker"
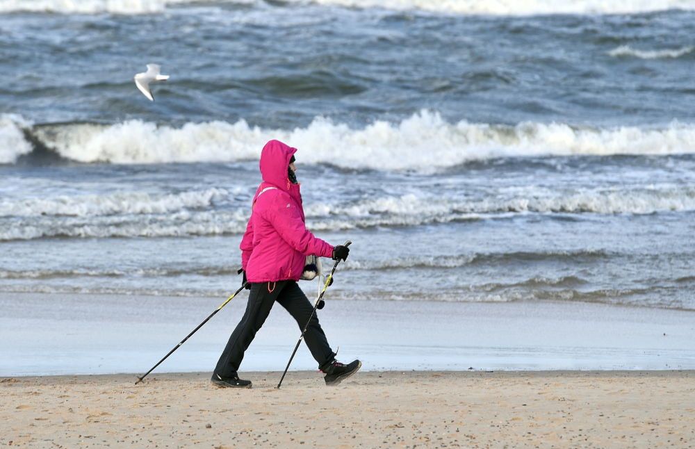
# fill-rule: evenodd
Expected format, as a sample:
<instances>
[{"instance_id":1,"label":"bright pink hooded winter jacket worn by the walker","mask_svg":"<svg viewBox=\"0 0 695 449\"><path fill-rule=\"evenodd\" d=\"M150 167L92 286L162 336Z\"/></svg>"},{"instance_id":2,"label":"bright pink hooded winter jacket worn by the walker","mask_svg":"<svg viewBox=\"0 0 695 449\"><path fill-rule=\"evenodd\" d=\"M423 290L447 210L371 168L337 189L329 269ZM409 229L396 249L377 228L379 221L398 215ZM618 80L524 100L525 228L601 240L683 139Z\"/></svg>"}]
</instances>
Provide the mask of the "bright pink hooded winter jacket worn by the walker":
<instances>
[{"instance_id":1,"label":"bright pink hooded winter jacket worn by the walker","mask_svg":"<svg viewBox=\"0 0 695 449\"><path fill-rule=\"evenodd\" d=\"M296 148L279 140L270 140L261 152L263 182L254 195L251 218L239 245L241 267L249 282L297 281L306 256L333 254L333 247L314 237L304 224L300 186L287 177L295 152Z\"/></svg>"}]
</instances>

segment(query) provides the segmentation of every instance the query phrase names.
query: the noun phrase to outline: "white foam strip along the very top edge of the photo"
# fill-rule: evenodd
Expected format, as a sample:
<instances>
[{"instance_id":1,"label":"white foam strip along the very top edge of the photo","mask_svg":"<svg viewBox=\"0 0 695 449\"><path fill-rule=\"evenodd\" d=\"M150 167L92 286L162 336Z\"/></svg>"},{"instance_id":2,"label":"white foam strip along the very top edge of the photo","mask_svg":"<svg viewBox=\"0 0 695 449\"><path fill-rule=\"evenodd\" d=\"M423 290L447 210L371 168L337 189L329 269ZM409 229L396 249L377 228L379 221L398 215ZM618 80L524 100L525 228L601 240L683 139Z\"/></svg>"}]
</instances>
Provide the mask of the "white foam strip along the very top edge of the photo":
<instances>
[{"instance_id":1,"label":"white foam strip along the very top edge of the photo","mask_svg":"<svg viewBox=\"0 0 695 449\"><path fill-rule=\"evenodd\" d=\"M290 0L291 3L341 6L348 8L384 8L390 10L423 10L432 13L459 15L538 15L538 14L629 14L657 10L695 9L692 0ZM49 13L124 15L163 13L167 7L193 0L2 0L0 13L33 11ZM218 0L213 3L262 4L260 0Z\"/></svg>"}]
</instances>

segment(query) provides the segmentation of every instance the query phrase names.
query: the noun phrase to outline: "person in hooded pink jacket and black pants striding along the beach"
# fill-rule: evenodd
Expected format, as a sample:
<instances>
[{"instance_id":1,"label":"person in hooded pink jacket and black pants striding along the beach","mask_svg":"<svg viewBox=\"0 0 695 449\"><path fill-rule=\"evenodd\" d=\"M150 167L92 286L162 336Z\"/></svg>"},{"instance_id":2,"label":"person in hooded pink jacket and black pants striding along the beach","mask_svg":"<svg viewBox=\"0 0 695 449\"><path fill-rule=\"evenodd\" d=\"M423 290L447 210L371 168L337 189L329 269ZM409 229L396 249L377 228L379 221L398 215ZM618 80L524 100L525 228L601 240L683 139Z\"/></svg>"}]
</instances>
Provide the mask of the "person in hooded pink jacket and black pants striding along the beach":
<instances>
[{"instance_id":1,"label":"person in hooded pink jacket and black pants striding along the beach","mask_svg":"<svg viewBox=\"0 0 695 449\"><path fill-rule=\"evenodd\" d=\"M333 247L306 229L300 185L295 177L296 148L270 140L261 152L263 182L254 195L251 218L240 249L243 283L250 289L246 311L220 360L211 381L222 387L251 388L250 380L240 379L238 369L244 352L268 318L277 301L297 320L300 329L309 321L304 341L325 373L327 385L339 384L362 366L361 361L341 364L328 344L313 306L297 281L304 271L306 256L347 259L350 250Z\"/></svg>"}]
</instances>

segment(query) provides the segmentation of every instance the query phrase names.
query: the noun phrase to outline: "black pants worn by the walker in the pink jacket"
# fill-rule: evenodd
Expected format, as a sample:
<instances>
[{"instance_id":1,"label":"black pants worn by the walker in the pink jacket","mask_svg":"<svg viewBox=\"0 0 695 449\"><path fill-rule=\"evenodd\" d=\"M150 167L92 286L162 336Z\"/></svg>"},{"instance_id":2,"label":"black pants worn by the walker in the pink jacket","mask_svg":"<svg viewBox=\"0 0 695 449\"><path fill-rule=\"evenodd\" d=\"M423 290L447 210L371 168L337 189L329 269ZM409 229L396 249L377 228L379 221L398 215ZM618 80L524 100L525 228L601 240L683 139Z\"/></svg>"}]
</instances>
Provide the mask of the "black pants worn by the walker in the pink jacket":
<instances>
[{"instance_id":1,"label":"black pants worn by the walker in the pink jacket","mask_svg":"<svg viewBox=\"0 0 695 449\"><path fill-rule=\"evenodd\" d=\"M275 285L274 285L275 284ZM273 288L275 286L275 288ZM309 315L313 310L313 305L306 298L302 289L295 281L263 282L261 284L251 284L249 302L246 312L236 329L232 332L227 346L222 351L220 360L215 367L215 374L221 377L232 377L236 375L239 365L244 358L244 352L259 332L265 318L268 318L272 304L279 302L295 320L300 329L309 320ZM319 368L332 361L335 353L331 350L323 333L321 325L318 324L316 313L311 317L311 323L306 328L304 341L311 351L311 355L318 362Z\"/></svg>"}]
</instances>

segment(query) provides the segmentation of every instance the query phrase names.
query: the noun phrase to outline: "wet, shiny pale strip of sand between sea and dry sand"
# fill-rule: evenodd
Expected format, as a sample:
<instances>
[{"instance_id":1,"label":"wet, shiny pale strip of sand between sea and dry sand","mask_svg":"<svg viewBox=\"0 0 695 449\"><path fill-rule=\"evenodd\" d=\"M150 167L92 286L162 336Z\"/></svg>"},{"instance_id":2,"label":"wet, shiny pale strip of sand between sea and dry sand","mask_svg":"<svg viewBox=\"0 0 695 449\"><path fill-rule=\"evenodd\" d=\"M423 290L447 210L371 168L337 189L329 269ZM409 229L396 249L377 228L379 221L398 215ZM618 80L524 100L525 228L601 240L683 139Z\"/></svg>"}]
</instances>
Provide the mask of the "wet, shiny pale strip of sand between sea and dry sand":
<instances>
[{"instance_id":1,"label":"wet, shiny pale strip of sand between sea and dry sand","mask_svg":"<svg viewBox=\"0 0 695 449\"><path fill-rule=\"evenodd\" d=\"M219 298L0 295L0 376L147 372ZM246 297L230 302L169 357L164 373L215 366ZM27 313L27 311L31 313ZM341 361L388 370L695 369L689 311L559 302L327 302L320 323ZM274 307L240 372L284 368L297 323ZM302 344L291 370L313 370Z\"/></svg>"}]
</instances>

